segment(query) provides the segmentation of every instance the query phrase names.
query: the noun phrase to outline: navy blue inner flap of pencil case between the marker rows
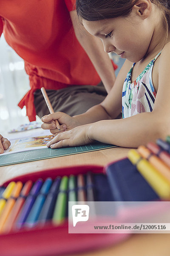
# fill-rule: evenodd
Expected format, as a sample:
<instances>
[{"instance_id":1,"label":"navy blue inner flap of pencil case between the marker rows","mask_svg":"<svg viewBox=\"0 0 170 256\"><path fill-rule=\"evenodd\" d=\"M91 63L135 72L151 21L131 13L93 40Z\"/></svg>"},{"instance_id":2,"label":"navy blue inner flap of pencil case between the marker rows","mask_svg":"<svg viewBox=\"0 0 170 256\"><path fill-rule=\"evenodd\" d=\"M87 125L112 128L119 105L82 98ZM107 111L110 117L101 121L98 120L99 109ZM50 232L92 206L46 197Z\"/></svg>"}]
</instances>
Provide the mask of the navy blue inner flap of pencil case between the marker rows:
<instances>
[{"instance_id":1,"label":"navy blue inner flap of pencil case between the marker rows","mask_svg":"<svg viewBox=\"0 0 170 256\"><path fill-rule=\"evenodd\" d=\"M106 166L114 201L152 201L159 196L128 159Z\"/></svg>"}]
</instances>

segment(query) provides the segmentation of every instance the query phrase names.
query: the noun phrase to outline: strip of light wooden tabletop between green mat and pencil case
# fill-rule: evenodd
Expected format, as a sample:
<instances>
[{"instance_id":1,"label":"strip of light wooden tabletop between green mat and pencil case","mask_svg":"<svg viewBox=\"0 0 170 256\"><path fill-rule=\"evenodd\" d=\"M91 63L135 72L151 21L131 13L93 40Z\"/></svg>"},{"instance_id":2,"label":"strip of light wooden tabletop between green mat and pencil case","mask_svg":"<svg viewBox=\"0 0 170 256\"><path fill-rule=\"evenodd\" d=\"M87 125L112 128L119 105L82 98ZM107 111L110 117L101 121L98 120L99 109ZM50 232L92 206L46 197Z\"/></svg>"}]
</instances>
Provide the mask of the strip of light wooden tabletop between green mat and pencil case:
<instances>
[{"instance_id":1,"label":"strip of light wooden tabletop between green mat and pencil case","mask_svg":"<svg viewBox=\"0 0 170 256\"><path fill-rule=\"evenodd\" d=\"M105 166L117 159L127 156L128 148L108 148L99 151L91 151L64 157L49 158L28 163L18 163L0 167L0 185L6 180L29 172L43 169L77 166L77 165L100 165Z\"/></svg>"}]
</instances>

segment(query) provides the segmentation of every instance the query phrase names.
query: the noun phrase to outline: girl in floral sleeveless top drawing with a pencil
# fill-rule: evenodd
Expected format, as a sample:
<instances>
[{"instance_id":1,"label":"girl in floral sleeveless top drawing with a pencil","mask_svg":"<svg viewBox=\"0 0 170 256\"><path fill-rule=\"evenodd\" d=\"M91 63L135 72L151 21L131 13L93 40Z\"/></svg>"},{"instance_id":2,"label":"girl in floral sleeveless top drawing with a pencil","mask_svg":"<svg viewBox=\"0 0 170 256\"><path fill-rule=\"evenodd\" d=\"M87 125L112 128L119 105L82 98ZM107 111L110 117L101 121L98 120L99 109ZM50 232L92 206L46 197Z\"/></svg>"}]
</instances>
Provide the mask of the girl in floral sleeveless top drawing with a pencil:
<instances>
[{"instance_id":1,"label":"girl in floral sleeveless top drawing with a pencil","mask_svg":"<svg viewBox=\"0 0 170 256\"><path fill-rule=\"evenodd\" d=\"M170 0L77 0L77 14L106 52L126 61L101 104L73 117L57 112L42 118L42 128L57 134L47 146L98 140L134 148L164 139L170 134Z\"/></svg>"}]
</instances>

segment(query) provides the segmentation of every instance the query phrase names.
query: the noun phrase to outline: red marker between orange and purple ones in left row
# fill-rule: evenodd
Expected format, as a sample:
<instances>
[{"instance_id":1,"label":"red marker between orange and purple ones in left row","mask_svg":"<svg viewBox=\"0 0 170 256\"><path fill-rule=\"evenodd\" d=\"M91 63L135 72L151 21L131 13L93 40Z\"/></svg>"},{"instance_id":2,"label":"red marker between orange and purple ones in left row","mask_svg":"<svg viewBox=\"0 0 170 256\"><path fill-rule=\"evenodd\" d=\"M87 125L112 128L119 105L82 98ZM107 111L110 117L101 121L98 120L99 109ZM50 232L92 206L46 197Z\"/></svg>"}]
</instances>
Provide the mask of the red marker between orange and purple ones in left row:
<instances>
[{"instance_id":1,"label":"red marker between orange and purple ones in left row","mask_svg":"<svg viewBox=\"0 0 170 256\"><path fill-rule=\"evenodd\" d=\"M26 198L31 190L31 187L32 187L32 181L28 180L24 184L23 189L21 190L21 193L20 193L19 197L17 198L17 201L14 204L14 207L12 208L12 210L6 220L6 223L3 227L3 231L9 232L14 227L14 223L23 207L24 202L26 201Z\"/></svg>"}]
</instances>

